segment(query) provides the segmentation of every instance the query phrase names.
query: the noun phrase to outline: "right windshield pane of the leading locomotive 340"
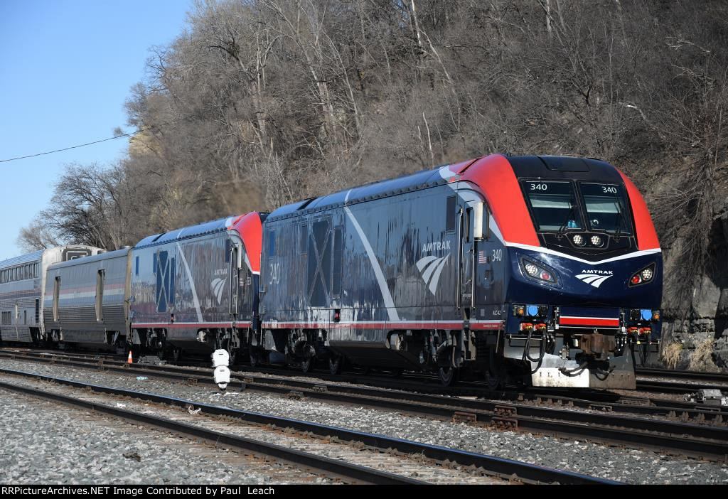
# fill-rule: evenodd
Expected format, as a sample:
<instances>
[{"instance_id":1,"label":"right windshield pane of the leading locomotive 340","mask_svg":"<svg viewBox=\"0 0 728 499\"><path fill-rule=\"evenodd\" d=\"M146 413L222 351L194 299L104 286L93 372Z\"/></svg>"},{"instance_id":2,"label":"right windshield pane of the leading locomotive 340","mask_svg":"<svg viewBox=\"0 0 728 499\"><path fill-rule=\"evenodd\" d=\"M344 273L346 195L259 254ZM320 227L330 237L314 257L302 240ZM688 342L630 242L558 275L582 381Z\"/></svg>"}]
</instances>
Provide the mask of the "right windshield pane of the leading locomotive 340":
<instances>
[{"instance_id":1,"label":"right windshield pane of the leading locomotive 340","mask_svg":"<svg viewBox=\"0 0 728 499\"><path fill-rule=\"evenodd\" d=\"M621 185L582 183L591 230L631 233L627 201Z\"/></svg>"}]
</instances>

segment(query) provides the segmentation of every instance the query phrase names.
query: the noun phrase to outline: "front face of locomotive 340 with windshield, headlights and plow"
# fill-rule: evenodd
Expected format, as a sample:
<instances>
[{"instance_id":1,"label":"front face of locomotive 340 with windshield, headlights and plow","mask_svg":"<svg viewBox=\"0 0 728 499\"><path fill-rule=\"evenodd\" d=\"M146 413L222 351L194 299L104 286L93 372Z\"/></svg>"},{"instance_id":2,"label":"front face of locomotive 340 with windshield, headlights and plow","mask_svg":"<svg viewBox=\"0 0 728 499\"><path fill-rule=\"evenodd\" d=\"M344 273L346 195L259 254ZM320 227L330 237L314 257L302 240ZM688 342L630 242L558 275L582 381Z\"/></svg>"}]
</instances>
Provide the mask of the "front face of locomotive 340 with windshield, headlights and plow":
<instances>
[{"instance_id":1,"label":"front face of locomotive 340 with windshield, headlights and plow","mask_svg":"<svg viewBox=\"0 0 728 499\"><path fill-rule=\"evenodd\" d=\"M503 356L534 386L635 388L634 354L644 362L660 338L662 292L659 247L645 248L644 207L630 202L641 196L602 161L509 161L539 244L509 245Z\"/></svg>"}]
</instances>

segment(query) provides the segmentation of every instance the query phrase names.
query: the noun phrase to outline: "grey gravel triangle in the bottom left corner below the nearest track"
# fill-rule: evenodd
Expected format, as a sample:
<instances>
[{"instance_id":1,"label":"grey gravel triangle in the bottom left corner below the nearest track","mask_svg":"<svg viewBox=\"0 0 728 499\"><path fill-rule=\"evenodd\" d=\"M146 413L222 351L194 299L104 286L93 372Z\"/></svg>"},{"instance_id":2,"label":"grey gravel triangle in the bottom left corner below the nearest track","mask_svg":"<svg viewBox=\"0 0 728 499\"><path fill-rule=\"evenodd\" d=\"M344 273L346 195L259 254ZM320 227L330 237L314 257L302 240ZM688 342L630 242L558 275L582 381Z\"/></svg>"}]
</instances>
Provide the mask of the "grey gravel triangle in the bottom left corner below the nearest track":
<instances>
[{"instance_id":1,"label":"grey gravel triangle in the bottom left corner below the nearest track","mask_svg":"<svg viewBox=\"0 0 728 499\"><path fill-rule=\"evenodd\" d=\"M0 390L0 483L329 483L98 413Z\"/></svg>"}]
</instances>

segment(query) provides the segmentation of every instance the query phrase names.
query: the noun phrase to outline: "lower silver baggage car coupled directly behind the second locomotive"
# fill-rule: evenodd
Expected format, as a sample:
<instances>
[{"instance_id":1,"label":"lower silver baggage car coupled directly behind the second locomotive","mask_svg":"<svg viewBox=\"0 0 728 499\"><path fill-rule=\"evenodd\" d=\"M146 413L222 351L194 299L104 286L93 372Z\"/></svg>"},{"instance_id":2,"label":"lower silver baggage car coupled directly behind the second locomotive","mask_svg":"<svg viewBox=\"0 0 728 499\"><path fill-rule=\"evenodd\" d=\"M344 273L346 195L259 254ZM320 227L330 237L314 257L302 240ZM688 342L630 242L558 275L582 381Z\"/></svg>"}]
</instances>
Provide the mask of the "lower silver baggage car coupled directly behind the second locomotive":
<instances>
[{"instance_id":1,"label":"lower silver baggage car coupled directly behind the second locomotive","mask_svg":"<svg viewBox=\"0 0 728 499\"><path fill-rule=\"evenodd\" d=\"M50 338L98 350L125 348L130 276L130 248L50 266L44 296Z\"/></svg>"}]
</instances>

